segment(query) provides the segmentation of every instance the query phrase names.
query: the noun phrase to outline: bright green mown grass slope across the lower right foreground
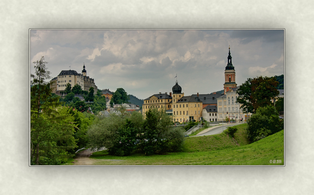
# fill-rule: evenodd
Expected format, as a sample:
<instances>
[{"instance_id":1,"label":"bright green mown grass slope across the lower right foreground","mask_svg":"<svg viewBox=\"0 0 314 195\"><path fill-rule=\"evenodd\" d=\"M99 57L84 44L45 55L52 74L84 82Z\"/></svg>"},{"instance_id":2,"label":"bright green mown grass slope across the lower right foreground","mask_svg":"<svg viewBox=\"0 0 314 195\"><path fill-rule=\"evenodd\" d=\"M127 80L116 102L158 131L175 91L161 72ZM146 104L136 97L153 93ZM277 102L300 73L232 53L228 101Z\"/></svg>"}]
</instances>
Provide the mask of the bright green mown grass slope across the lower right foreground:
<instances>
[{"instance_id":1,"label":"bright green mown grass slope across the lower right foreground","mask_svg":"<svg viewBox=\"0 0 314 195\"><path fill-rule=\"evenodd\" d=\"M243 138L245 125L241 125L236 142L226 134L186 139L189 152L167 155L133 154L110 156L106 151L95 152L91 158L102 159L97 165L284 165L284 131L252 144ZM198 146L201 144L202 146ZM270 163L281 160L281 163Z\"/></svg>"}]
</instances>

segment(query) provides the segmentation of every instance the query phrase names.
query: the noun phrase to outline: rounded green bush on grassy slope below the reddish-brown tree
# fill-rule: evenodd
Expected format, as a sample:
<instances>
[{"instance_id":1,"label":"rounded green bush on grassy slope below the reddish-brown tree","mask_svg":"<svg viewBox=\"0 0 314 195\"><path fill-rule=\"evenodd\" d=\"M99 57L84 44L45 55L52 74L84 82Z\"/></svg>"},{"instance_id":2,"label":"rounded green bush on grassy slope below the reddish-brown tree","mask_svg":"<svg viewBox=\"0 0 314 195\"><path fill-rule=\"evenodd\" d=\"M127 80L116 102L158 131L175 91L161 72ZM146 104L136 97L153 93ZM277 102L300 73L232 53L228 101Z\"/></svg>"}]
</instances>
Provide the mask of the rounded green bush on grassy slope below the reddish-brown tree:
<instances>
[{"instance_id":1,"label":"rounded green bush on grassy slope below the reddish-brown tree","mask_svg":"<svg viewBox=\"0 0 314 195\"><path fill-rule=\"evenodd\" d=\"M281 131L284 121L279 119L277 111L271 105L260 107L247 122L247 136L250 142L255 142Z\"/></svg>"}]
</instances>

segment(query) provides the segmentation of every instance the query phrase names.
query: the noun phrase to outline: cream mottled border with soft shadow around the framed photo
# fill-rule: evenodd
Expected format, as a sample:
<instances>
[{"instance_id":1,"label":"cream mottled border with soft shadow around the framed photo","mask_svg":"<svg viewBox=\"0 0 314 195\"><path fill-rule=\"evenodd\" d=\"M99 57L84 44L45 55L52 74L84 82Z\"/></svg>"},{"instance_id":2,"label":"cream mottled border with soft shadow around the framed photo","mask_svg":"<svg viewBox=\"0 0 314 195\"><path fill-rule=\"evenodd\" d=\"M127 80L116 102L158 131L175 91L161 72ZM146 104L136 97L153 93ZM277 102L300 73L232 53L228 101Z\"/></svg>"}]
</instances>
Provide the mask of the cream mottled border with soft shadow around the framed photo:
<instances>
[{"instance_id":1,"label":"cream mottled border with soft shadow around the framed photo","mask_svg":"<svg viewBox=\"0 0 314 195\"><path fill-rule=\"evenodd\" d=\"M0 194L311 194L312 1L0 1ZM29 167L29 28L284 28L285 167Z\"/></svg>"}]
</instances>

